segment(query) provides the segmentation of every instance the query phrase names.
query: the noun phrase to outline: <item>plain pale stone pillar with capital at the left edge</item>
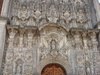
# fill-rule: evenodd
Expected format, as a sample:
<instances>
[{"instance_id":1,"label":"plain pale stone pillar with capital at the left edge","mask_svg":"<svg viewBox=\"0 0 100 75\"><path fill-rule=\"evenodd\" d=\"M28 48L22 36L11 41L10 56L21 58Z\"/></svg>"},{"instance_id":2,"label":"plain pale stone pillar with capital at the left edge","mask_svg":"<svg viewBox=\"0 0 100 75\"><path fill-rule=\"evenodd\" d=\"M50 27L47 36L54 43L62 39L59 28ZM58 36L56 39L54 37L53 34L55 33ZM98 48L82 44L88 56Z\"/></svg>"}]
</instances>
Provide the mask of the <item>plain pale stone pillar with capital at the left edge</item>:
<instances>
[{"instance_id":1,"label":"plain pale stone pillar with capital at the left edge","mask_svg":"<svg viewBox=\"0 0 100 75\"><path fill-rule=\"evenodd\" d=\"M4 52L4 45L6 39L6 28L5 25L7 24L7 18L0 18L0 75L2 75L2 59L3 59L3 52Z\"/></svg>"}]
</instances>

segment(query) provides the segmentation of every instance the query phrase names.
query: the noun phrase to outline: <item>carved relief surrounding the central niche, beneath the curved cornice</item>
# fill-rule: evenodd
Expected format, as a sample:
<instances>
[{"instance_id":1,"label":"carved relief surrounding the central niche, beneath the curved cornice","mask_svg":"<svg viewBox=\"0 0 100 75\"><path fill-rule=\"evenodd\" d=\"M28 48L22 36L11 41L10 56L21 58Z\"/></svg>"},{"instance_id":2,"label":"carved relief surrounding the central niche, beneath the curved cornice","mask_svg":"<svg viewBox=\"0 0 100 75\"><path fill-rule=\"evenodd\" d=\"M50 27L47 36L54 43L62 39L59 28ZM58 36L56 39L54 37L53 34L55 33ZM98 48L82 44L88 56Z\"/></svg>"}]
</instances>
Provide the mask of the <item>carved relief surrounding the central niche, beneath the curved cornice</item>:
<instances>
[{"instance_id":1,"label":"carved relief surrounding the central niche, beneath the curved cornice","mask_svg":"<svg viewBox=\"0 0 100 75\"><path fill-rule=\"evenodd\" d=\"M56 30L53 31L53 32L56 32ZM60 31L60 33L61 32L62 31ZM49 33L50 32L48 31L47 34L49 34ZM63 38L64 38L64 36L63 36ZM69 48L65 44L62 45L62 46L59 46L61 48L58 47L58 45L60 45L61 39L63 39L63 38L61 36L58 36L57 34L53 34L53 33L49 34L48 36L46 36L43 41L44 41L44 43L47 42L46 45L47 44L48 45L45 46L45 44L42 43L42 45L40 47L40 51L41 51L40 52L41 53L40 60L44 60L44 59L46 59L48 57L57 58L59 56L62 57L62 58L64 58L64 59L67 59L68 58L67 57L67 51L69 50ZM58 40L59 40L59 42L56 42Z\"/></svg>"}]
</instances>

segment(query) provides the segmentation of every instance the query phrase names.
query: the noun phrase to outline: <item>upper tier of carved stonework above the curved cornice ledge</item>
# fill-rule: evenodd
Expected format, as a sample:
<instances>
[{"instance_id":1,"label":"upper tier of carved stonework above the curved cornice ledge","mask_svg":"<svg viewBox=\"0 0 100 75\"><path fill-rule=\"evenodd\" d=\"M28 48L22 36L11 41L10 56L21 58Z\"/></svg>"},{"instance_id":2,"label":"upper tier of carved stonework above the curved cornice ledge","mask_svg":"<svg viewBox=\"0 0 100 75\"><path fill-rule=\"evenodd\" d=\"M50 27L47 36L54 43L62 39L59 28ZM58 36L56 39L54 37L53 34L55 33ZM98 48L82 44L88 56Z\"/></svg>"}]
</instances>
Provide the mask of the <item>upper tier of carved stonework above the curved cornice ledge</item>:
<instances>
[{"instance_id":1,"label":"upper tier of carved stonework above the curved cornice ledge","mask_svg":"<svg viewBox=\"0 0 100 75\"><path fill-rule=\"evenodd\" d=\"M90 28L91 27L91 12L88 4L81 6L84 1L75 0L71 1L59 1L59 7L55 1L48 3L49 1L13 1L13 15L11 19L11 24L20 26L39 26L47 23L61 23L68 28L74 27L71 25L71 21L74 19L76 25L80 28ZM66 3L67 2L67 3ZM27 5L29 3L29 5ZM36 3L38 5L36 5ZM48 6L49 5L49 6ZM66 6L65 6L66 5ZM16 9L15 9L16 8ZM83 9L85 12L83 12ZM77 12L77 13L76 13ZM30 17L31 16L31 17ZM88 17L87 20L85 17ZM81 25L80 25L81 23ZM84 24L83 24L84 23ZM85 24L88 24L86 27Z\"/></svg>"}]
</instances>

